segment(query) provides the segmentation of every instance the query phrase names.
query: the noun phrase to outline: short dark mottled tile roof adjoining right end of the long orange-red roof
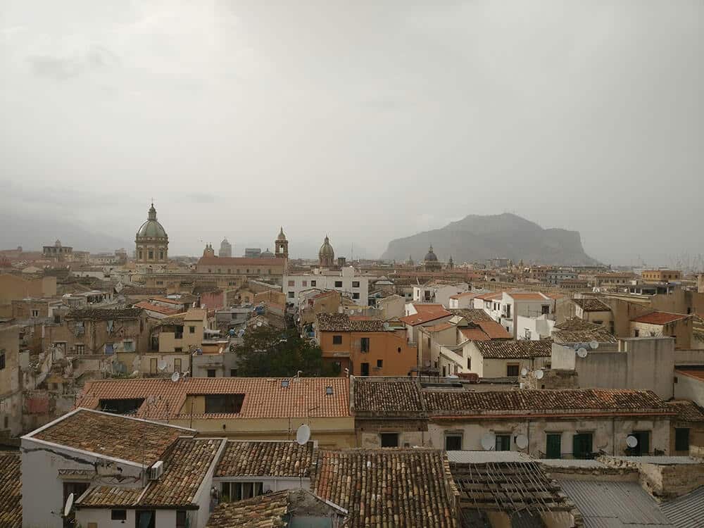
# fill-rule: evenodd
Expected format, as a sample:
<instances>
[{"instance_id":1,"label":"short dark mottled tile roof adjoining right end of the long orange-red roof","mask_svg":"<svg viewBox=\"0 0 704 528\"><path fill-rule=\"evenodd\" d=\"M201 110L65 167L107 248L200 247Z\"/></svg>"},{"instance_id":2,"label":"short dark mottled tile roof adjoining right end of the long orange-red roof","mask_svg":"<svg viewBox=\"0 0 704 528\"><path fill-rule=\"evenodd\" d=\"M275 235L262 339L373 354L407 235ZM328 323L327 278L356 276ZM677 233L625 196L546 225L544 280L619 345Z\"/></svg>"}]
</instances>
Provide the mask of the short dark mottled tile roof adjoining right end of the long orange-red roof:
<instances>
[{"instance_id":1,"label":"short dark mottled tile roof adjoining right end of the long orange-red roof","mask_svg":"<svg viewBox=\"0 0 704 528\"><path fill-rule=\"evenodd\" d=\"M355 377L352 393L356 415L422 413L422 393L416 379Z\"/></svg>"}]
</instances>

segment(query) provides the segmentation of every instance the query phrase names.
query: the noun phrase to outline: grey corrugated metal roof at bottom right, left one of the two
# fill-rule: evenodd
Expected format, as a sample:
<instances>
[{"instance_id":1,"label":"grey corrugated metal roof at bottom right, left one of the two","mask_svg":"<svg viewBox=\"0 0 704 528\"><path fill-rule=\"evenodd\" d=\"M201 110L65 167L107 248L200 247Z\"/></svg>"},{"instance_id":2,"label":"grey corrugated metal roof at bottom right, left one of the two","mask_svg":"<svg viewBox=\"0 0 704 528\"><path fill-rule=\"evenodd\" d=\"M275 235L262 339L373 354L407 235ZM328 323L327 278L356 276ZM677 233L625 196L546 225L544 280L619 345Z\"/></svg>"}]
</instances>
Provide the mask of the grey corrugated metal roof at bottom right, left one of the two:
<instances>
[{"instance_id":1,"label":"grey corrugated metal roof at bottom right, left one of the two","mask_svg":"<svg viewBox=\"0 0 704 528\"><path fill-rule=\"evenodd\" d=\"M558 482L584 515L586 527L673 526L637 482L562 479Z\"/></svg>"}]
</instances>

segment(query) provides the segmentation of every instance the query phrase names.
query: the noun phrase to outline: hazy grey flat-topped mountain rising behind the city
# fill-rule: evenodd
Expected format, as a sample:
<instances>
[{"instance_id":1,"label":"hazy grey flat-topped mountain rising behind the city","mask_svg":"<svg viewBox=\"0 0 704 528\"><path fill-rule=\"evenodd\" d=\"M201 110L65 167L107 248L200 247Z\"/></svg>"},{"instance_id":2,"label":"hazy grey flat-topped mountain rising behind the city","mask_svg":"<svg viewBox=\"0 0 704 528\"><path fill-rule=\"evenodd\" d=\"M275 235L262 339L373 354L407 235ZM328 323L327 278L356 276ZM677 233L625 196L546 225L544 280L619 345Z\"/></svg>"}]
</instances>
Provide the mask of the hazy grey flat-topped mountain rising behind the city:
<instances>
[{"instance_id":1,"label":"hazy grey flat-topped mountain rising behind the city","mask_svg":"<svg viewBox=\"0 0 704 528\"><path fill-rule=\"evenodd\" d=\"M520 216L468 215L438 230L414 234L389 242L384 260L418 262L425 257L429 244L440 260L452 256L455 263L483 262L488 258L510 258L524 263L590 265L597 264L584 253L577 231L543 229Z\"/></svg>"}]
</instances>

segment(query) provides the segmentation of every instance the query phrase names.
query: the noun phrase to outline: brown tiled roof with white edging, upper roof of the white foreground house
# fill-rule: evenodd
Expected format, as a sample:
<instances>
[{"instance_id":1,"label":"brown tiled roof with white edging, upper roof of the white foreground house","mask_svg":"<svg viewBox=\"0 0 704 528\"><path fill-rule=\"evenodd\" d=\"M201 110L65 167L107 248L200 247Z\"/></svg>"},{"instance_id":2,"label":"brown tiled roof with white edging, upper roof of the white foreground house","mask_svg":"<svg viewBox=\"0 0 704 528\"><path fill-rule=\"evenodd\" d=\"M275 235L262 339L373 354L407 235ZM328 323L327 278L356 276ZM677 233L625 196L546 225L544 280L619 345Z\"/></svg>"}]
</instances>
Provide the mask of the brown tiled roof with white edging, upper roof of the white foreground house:
<instances>
[{"instance_id":1,"label":"brown tiled roof with white edging, upper roof of the white foreground house","mask_svg":"<svg viewBox=\"0 0 704 528\"><path fill-rule=\"evenodd\" d=\"M178 436L191 434L194 432L182 427L79 409L27 437L151 465L161 458Z\"/></svg>"}]
</instances>

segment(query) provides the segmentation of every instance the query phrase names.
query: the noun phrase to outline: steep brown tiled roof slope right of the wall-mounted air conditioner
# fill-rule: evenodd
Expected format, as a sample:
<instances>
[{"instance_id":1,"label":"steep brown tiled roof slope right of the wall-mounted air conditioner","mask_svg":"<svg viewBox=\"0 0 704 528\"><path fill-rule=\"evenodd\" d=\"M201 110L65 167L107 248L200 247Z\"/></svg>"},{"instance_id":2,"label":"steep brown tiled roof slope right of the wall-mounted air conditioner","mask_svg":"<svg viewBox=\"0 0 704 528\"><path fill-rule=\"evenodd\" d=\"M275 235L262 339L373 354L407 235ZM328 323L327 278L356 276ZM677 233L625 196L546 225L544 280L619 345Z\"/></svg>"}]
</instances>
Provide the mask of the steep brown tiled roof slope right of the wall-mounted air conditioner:
<instances>
[{"instance_id":1,"label":"steep brown tiled roof slope right of the wall-mounted air conditioner","mask_svg":"<svg viewBox=\"0 0 704 528\"><path fill-rule=\"evenodd\" d=\"M223 439L181 438L164 461L164 472L147 486L141 506L182 506L194 503ZM210 493L209 490L203 493Z\"/></svg>"}]
</instances>

